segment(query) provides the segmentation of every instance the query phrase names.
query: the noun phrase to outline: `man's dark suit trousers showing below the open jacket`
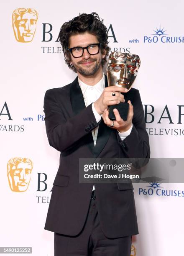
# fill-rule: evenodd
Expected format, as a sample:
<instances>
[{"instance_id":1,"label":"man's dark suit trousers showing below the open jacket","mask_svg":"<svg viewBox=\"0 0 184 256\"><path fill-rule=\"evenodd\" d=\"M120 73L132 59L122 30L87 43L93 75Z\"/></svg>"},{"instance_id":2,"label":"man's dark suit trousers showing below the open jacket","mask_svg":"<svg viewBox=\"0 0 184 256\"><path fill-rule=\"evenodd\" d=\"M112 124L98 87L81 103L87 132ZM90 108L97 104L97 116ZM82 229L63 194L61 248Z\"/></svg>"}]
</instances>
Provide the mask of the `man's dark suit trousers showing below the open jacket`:
<instances>
[{"instance_id":1,"label":"man's dark suit trousers showing below the open jacket","mask_svg":"<svg viewBox=\"0 0 184 256\"><path fill-rule=\"evenodd\" d=\"M103 234L97 200L94 190L87 219L77 236L54 233L54 256L130 256L131 236L107 238Z\"/></svg>"}]
</instances>

